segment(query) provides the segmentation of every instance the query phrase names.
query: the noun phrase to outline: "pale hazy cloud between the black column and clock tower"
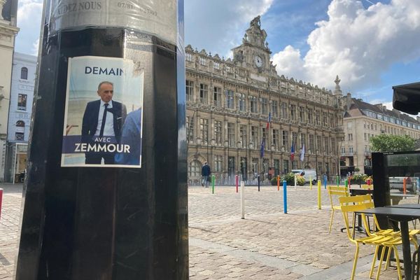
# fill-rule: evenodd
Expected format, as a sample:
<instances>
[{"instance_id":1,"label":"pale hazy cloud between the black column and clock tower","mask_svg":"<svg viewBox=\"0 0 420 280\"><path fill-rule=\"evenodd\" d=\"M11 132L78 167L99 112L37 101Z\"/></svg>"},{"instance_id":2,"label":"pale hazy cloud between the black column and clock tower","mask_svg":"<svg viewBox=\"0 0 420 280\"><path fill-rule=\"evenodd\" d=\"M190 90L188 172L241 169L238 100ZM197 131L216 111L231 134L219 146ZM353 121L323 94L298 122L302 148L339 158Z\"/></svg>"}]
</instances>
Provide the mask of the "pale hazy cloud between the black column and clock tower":
<instances>
[{"instance_id":1,"label":"pale hazy cloud between the black column and clock tower","mask_svg":"<svg viewBox=\"0 0 420 280\"><path fill-rule=\"evenodd\" d=\"M249 22L266 13L273 1L186 0L186 44L227 57L229 50L241 43Z\"/></svg>"}]
</instances>

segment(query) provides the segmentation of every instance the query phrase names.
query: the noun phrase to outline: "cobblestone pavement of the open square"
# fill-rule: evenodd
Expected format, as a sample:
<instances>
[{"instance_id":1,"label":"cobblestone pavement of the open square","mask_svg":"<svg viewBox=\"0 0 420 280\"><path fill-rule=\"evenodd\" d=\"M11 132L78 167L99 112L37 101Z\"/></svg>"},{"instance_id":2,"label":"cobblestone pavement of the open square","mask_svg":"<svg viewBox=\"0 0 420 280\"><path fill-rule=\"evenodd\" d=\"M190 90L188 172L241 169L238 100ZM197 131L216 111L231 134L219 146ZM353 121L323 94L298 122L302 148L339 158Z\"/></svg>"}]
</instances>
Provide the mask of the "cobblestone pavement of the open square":
<instances>
[{"instance_id":1,"label":"cobblestone pavement of the open square","mask_svg":"<svg viewBox=\"0 0 420 280\"><path fill-rule=\"evenodd\" d=\"M13 187L15 188L15 187ZM13 279L18 239L21 188L6 186L0 219L0 279ZM190 279L349 279L355 246L340 232L335 214L328 234L330 202L321 188L288 187L288 214L283 191L276 186L246 186L245 219L240 218L240 194L235 187L190 187ZM400 203L416 202L415 198ZM362 235L360 235L362 236ZM356 279L368 279L374 248L360 247ZM376 270L375 270L376 273ZM381 279L397 279L395 267Z\"/></svg>"}]
</instances>

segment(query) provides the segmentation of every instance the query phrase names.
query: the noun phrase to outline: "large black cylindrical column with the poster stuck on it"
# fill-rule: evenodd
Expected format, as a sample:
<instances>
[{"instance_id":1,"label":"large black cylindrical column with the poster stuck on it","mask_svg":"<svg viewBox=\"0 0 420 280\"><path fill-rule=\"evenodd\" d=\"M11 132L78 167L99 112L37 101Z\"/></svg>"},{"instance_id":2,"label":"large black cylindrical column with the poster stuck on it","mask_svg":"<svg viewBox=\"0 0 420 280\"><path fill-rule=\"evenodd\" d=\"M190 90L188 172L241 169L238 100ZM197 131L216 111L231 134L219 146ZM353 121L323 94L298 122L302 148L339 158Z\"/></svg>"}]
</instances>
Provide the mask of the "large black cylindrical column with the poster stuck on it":
<instances>
[{"instance_id":1,"label":"large black cylindrical column with the poster stuck on it","mask_svg":"<svg viewBox=\"0 0 420 280\"><path fill-rule=\"evenodd\" d=\"M183 0L44 7L15 279L188 279Z\"/></svg>"}]
</instances>

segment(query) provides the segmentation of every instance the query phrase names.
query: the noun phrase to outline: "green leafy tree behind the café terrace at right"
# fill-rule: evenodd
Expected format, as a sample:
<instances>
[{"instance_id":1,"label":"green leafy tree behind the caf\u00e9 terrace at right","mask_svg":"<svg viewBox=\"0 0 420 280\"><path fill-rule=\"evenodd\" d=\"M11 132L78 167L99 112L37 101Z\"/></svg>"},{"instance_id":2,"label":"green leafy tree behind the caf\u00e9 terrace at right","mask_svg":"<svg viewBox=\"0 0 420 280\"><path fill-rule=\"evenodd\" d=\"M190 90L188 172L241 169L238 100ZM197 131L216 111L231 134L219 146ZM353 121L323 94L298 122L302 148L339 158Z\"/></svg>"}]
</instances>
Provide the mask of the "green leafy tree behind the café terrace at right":
<instances>
[{"instance_id":1,"label":"green leafy tree behind the caf\u00e9 terrace at right","mask_svg":"<svg viewBox=\"0 0 420 280\"><path fill-rule=\"evenodd\" d=\"M370 138L374 152L403 152L414 150L414 139L408 135L381 134Z\"/></svg>"}]
</instances>

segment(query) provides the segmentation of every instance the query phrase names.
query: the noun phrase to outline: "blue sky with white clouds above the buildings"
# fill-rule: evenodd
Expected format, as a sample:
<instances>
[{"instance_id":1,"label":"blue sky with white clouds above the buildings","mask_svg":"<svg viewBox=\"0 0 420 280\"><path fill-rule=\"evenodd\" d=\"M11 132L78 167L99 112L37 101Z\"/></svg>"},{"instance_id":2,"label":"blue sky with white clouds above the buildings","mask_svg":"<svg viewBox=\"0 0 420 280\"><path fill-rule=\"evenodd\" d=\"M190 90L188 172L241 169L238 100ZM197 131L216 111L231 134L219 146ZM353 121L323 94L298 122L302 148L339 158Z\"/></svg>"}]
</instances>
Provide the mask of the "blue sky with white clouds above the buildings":
<instances>
[{"instance_id":1,"label":"blue sky with white clouds above the buildings","mask_svg":"<svg viewBox=\"0 0 420 280\"><path fill-rule=\"evenodd\" d=\"M261 16L279 75L392 109L392 86L420 81L419 0L184 0L185 43L231 57ZM42 1L20 0L18 52L37 53Z\"/></svg>"}]
</instances>

